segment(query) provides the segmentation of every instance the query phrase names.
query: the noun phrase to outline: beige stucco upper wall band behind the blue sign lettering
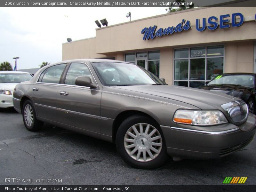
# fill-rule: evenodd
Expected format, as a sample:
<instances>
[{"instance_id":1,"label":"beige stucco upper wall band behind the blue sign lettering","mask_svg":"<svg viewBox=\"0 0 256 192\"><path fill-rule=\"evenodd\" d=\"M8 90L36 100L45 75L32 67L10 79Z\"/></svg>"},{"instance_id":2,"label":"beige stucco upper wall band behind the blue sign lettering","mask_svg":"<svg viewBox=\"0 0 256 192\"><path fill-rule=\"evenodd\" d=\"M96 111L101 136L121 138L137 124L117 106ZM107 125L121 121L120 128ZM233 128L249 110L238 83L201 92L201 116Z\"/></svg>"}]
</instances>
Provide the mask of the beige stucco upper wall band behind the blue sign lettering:
<instances>
[{"instance_id":1,"label":"beige stucco upper wall band behind the blue sign lettering","mask_svg":"<svg viewBox=\"0 0 256 192\"><path fill-rule=\"evenodd\" d=\"M228 42L237 40L256 39L256 22L255 20L244 22L240 27L226 28L210 31L206 29L203 32L196 30L196 19L208 19L210 16L220 18L223 14L232 14L241 12L245 18L255 15L254 7L211 7L186 10L177 13L164 14L145 20L137 20L122 25L109 26L106 28L96 29L96 44L101 44L96 48L97 53L108 52L128 52L129 50L145 50L153 48L162 48L166 46L186 46L190 44ZM158 26L166 28L176 26L182 19L191 21L191 29L174 33L168 36L156 37L155 39L142 39L141 30L144 27ZM231 18L230 18L231 19Z\"/></svg>"}]
</instances>

